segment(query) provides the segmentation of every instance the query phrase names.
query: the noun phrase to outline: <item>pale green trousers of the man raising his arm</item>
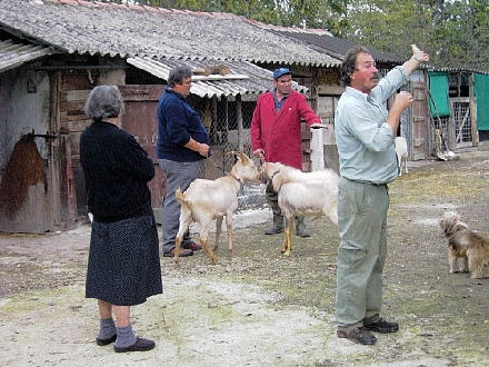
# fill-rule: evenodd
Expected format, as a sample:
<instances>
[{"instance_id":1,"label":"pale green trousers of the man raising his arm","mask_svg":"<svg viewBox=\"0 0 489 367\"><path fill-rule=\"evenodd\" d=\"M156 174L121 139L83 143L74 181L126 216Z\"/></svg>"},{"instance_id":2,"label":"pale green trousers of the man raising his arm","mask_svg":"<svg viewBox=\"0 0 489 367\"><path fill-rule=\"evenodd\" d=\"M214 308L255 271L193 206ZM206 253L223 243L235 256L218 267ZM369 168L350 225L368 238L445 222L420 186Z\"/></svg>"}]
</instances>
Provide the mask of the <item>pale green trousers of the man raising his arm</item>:
<instances>
[{"instance_id":1,"label":"pale green trousers of the man raising his arm","mask_svg":"<svg viewBox=\"0 0 489 367\"><path fill-rule=\"evenodd\" d=\"M382 271L387 252L387 185L341 178L338 194L336 318L339 329L377 321L382 307Z\"/></svg>"}]
</instances>

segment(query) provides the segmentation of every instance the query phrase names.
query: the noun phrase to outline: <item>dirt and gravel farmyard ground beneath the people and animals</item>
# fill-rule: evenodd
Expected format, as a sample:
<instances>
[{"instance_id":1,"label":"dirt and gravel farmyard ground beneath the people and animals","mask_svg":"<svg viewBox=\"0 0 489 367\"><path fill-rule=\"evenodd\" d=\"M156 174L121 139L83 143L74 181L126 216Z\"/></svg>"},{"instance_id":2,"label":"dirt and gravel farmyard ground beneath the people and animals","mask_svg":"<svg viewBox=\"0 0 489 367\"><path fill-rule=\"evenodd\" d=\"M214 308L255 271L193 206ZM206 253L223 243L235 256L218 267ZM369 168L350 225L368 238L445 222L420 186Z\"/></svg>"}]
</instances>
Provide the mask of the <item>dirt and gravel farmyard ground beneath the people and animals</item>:
<instances>
[{"instance_id":1,"label":"dirt and gravel farmyard ground beneath the people and animals","mask_svg":"<svg viewBox=\"0 0 489 367\"><path fill-rule=\"evenodd\" d=\"M489 147L488 147L489 148ZM0 234L0 366L489 366L489 279L448 272L438 221L457 210L489 232L489 151L408 162L389 187L383 316L399 333L375 346L336 337L338 232L307 219L312 237L265 236L269 209L236 216L234 256L202 251L174 269L161 257L164 292L132 309L148 353L98 347L97 305L84 298L90 226L42 236ZM196 228L196 227L193 227Z\"/></svg>"}]
</instances>

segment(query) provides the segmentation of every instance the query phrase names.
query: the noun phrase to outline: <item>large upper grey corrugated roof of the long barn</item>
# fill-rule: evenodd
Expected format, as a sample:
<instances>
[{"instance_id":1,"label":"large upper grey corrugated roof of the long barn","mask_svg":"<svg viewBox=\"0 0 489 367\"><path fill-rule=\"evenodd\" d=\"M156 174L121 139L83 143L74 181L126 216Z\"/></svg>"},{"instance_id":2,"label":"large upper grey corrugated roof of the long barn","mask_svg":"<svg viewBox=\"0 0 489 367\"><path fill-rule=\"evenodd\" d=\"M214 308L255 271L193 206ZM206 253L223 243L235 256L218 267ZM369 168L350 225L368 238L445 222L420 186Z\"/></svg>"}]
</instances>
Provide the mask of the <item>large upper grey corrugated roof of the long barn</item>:
<instances>
[{"instance_id":1,"label":"large upper grey corrugated roof of the long barn","mask_svg":"<svg viewBox=\"0 0 489 367\"><path fill-rule=\"evenodd\" d=\"M229 13L81 0L0 0L0 26L69 53L322 67L340 62Z\"/></svg>"}]
</instances>

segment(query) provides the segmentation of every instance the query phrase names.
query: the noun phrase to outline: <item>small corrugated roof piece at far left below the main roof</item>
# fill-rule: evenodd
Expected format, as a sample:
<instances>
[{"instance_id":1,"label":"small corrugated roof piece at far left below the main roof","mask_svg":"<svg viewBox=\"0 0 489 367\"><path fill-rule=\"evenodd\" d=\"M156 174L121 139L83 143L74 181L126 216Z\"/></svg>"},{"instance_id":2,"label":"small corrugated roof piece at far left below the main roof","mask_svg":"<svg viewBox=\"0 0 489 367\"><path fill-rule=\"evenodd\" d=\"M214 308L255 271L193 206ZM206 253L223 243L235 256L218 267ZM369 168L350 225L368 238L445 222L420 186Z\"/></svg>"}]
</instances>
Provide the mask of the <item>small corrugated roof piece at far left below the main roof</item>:
<instances>
[{"instance_id":1,"label":"small corrugated roof piece at far left below the main roof","mask_svg":"<svg viewBox=\"0 0 489 367\"><path fill-rule=\"evenodd\" d=\"M12 40L0 41L0 72L18 68L53 53L43 46L14 43Z\"/></svg>"}]
</instances>

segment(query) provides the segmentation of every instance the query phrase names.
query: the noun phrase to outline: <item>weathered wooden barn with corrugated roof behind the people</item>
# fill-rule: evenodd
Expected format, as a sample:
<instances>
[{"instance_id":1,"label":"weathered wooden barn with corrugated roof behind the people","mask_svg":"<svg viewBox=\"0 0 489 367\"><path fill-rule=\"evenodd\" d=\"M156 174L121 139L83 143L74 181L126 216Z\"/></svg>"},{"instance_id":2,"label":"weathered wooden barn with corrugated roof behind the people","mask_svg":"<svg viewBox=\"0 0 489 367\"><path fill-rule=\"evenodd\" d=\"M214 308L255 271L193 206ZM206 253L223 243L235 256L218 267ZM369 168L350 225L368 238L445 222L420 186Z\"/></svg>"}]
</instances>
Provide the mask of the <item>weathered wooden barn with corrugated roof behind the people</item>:
<instances>
[{"instance_id":1,"label":"weathered wooden barn with corrugated roof behind the people","mask_svg":"<svg viewBox=\"0 0 489 367\"><path fill-rule=\"evenodd\" d=\"M351 46L325 30L279 28L228 13L0 0L0 231L66 230L87 221L78 146L91 122L81 110L94 86L119 86L127 103L123 128L157 166L156 105L169 70L180 65L213 70L196 73L189 97L211 136L213 155L201 177L228 170L229 150L250 153L256 100L271 89L271 70L279 66L292 70L295 88L331 125L329 132L303 129L303 169L337 168L333 112L343 90L339 66ZM402 62L373 54L385 70ZM407 88L417 96L403 121L410 157L423 159L430 155L427 70ZM164 179L156 171L150 188L158 211Z\"/></svg>"}]
</instances>

